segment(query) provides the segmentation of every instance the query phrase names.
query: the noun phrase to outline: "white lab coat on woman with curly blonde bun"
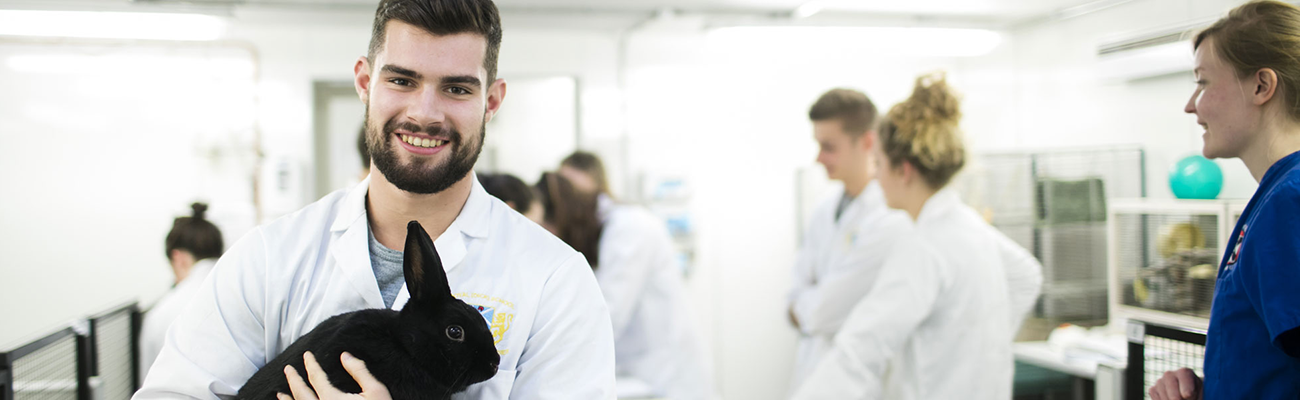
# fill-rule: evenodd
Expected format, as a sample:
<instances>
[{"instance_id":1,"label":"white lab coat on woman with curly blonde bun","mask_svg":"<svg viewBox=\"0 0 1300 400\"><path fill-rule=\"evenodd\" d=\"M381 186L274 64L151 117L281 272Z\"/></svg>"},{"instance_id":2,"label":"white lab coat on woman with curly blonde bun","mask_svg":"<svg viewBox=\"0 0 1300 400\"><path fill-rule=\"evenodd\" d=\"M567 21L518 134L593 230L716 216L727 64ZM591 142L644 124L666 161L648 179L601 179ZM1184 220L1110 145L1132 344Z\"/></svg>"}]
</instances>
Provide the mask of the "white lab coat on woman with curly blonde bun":
<instances>
[{"instance_id":1,"label":"white lab coat on woman with curly blonde bun","mask_svg":"<svg viewBox=\"0 0 1300 400\"><path fill-rule=\"evenodd\" d=\"M1011 397L1011 340L1041 265L942 190L794 399Z\"/></svg>"}]
</instances>

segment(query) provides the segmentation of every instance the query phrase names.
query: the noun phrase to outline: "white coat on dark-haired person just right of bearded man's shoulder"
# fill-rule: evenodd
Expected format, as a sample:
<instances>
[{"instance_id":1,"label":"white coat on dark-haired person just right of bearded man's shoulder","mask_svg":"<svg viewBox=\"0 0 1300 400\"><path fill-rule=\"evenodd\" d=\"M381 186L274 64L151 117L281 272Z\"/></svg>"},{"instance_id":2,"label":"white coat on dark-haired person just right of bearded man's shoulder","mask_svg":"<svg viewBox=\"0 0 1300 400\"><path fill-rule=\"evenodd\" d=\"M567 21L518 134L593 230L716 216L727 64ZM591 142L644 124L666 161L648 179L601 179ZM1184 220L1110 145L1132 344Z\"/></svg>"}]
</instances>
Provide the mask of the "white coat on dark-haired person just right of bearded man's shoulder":
<instances>
[{"instance_id":1,"label":"white coat on dark-haired person just right of bearded man's shoulder","mask_svg":"<svg viewBox=\"0 0 1300 400\"><path fill-rule=\"evenodd\" d=\"M595 281L610 306L618 374L671 400L712 399L710 357L690 318L667 226L604 196L601 218Z\"/></svg>"}]
</instances>

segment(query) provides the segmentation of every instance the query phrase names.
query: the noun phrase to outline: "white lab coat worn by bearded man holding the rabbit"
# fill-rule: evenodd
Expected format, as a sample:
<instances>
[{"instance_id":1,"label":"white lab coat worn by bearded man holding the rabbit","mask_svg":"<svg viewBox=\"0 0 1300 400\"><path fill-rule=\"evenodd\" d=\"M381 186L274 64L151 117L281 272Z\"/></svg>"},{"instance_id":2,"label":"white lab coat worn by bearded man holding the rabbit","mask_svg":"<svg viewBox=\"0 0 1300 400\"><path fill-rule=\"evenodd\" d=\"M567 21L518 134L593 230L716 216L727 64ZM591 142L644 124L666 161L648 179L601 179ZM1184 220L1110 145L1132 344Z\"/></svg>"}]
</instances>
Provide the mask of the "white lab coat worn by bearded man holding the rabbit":
<instances>
[{"instance_id":1,"label":"white lab coat worn by bearded man holding the rabbit","mask_svg":"<svg viewBox=\"0 0 1300 400\"><path fill-rule=\"evenodd\" d=\"M434 240L454 295L484 306L497 375L454 399L614 399L610 314L582 255L473 188ZM368 248L369 179L257 227L217 261L135 399L234 395L326 318L384 308ZM393 309L411 295L406 287Z\"/></svg>"}]
</instances>

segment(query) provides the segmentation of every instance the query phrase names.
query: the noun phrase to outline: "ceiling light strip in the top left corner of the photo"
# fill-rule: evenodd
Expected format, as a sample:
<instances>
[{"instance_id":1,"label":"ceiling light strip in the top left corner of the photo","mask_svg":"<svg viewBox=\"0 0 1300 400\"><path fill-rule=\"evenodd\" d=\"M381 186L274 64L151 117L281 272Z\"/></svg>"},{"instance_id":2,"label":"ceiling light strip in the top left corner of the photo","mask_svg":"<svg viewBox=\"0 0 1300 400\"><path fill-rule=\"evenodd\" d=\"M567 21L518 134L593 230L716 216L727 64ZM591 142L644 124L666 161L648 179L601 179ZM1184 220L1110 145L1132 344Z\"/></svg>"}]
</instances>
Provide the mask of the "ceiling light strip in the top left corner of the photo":
<instances>
[{"instance_id":1,"label":"ceiling light strip in the top left corner of the photo","mask_svg":"<svg viewBox=\"0 0 1300 400\"><path fill-rule=\"evenodd\" d=\"M14 36L216 40L224 30L202 14L0 10L0 35Z\"/></svg>"}]
</instances>

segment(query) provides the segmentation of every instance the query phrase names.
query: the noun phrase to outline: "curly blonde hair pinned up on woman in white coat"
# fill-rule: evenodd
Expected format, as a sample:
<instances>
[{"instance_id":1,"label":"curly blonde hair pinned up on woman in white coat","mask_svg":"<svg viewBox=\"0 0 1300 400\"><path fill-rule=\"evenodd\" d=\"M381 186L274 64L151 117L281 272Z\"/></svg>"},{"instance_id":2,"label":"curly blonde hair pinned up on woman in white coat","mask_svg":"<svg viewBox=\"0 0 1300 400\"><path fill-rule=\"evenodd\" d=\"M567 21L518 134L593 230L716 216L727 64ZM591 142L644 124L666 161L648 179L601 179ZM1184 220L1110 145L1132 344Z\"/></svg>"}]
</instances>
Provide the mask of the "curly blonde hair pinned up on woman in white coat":
<instances>
[{"instance_id":1,"label":"curly blonde hair pinned up on woman in white coat","mask_svg":"<svg viewBox=\"0 0 1300 400\"><path fill-rule=\"evenodd\" d=\"M961 99L948 86L944 73L916 78L911 96L898 103L880 127L880 149L892 168L911 164L933 188L941 188L966 164L962 144Z\"/></svg>"}]
</instances>

